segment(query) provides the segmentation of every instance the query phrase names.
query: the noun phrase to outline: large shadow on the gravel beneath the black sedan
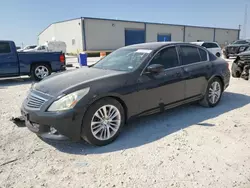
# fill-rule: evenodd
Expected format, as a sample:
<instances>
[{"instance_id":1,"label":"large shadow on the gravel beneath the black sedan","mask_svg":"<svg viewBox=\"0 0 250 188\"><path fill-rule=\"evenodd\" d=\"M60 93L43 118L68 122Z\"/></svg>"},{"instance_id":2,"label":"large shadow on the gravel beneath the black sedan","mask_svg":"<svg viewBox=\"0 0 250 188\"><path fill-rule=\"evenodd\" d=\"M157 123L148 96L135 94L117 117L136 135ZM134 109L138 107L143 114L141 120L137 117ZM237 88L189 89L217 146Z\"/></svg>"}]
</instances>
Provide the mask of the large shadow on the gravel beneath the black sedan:
<instances>
[{"instance_id":1,"label":"large shadow on the gravel beneath the black sedan","mask_svg":"<svg viewBox=\"0 0 250 188\"><path fill-rule=\"evenodd\" d=\"M250 103L250 96L225 92L220 104L214 108L203 108L199 105L177 107L161 114L142 117L125 126L118 139L112 144L95 147L85 142L46 141L61 152L87 155L100 154L139 147L168 136L192 125L216 126L209 119L241 108Z\"/></svg>"}]
</instances>

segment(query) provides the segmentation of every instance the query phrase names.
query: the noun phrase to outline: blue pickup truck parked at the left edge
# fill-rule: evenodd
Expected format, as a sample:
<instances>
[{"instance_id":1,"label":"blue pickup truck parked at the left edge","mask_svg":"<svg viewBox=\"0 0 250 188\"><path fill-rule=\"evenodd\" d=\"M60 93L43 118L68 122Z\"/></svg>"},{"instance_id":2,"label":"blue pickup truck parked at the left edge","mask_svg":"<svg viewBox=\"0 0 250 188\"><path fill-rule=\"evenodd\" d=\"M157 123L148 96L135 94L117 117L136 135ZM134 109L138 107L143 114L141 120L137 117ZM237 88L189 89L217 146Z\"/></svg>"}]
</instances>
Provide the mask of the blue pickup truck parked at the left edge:
<instances>
[{"instance_id":1,"label":"blue pickup truck parked at the left edge","mask_svg":"<svg viewBox=\"0 0 250 188\"><path fill-rule=\"evenodd\" d=\"M29 75L40 81L52 72L64 70L62 52L17 52L13 41L0 40L0 77Z\"/></svg>"}]
</instances>

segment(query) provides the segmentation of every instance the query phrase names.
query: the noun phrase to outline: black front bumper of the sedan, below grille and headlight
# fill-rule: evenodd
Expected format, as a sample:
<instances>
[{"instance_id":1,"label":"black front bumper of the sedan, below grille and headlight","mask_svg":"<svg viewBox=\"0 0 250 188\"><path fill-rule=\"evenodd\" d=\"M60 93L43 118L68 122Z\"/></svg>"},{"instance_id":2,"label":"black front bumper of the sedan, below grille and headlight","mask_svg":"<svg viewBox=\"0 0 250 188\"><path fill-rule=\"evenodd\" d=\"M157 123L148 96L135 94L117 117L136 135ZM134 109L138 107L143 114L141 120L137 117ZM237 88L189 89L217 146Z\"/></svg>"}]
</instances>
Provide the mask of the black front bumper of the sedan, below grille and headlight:
<instances>
[{"instance_id":1,"label":"black front bumper of the sedan, below grille and headlight","mask_svg":"<svg viewBox=\"0 0 250 188\"><path fill-rule=\"evenodd\" d=\"M25 118L26 127L43 138L73 141L81 140L82 115L74 110L66 112L43 112L33 111L25 107L25 102L21 108L21 114ZM52 133L51 130L57 130Z\"/></svg>"}]
</instances>

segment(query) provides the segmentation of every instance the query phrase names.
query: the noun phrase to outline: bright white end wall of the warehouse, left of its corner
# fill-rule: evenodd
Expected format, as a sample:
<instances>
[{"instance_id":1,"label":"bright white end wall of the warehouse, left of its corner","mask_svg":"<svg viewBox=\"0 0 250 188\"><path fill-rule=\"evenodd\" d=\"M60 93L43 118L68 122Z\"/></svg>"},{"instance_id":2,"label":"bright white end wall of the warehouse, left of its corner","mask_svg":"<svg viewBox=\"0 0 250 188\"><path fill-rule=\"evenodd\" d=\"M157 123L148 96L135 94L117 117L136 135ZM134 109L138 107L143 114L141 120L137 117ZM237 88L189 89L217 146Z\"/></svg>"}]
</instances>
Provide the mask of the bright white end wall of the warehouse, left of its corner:
<instances>
[{"instance_id":1,"label":"bright white end wall of the warehouse, left of its corner","mask_svg":"<svg viewBox=\"0 0 250 188\"><path fill-rule=\"evenodd\" d=\"M39 44L44 44L46 41L50 41L52 37L55 37L56 40L66 43L67 53L78 53L83 51L81 27L81 19L55 23L40 34Z\"/></svg>"}]
</instances>

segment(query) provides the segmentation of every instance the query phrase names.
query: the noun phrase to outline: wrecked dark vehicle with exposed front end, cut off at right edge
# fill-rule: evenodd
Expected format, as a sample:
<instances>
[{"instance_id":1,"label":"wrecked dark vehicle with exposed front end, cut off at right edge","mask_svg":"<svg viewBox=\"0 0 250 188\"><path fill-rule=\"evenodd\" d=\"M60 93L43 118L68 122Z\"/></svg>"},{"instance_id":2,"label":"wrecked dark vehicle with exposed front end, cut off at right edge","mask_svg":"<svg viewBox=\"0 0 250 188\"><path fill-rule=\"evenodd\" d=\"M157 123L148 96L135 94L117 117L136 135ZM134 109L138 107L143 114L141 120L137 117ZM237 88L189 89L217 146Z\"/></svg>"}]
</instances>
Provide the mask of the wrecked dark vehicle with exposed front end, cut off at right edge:
<instances>
[{"instance_id":1,"label":"wrecked dark vehicle with exposed front end, cut off at right edge","mask_svg":"<svg viewBox=\"0 0 250 188\"><path fill-rule=\"evenodd\" d=\"M232 76L234 78L243 78L249 80L250 69L250 47L247 51L239 53L236 56L231 68Z\"/></svg>"}]
</instances>

